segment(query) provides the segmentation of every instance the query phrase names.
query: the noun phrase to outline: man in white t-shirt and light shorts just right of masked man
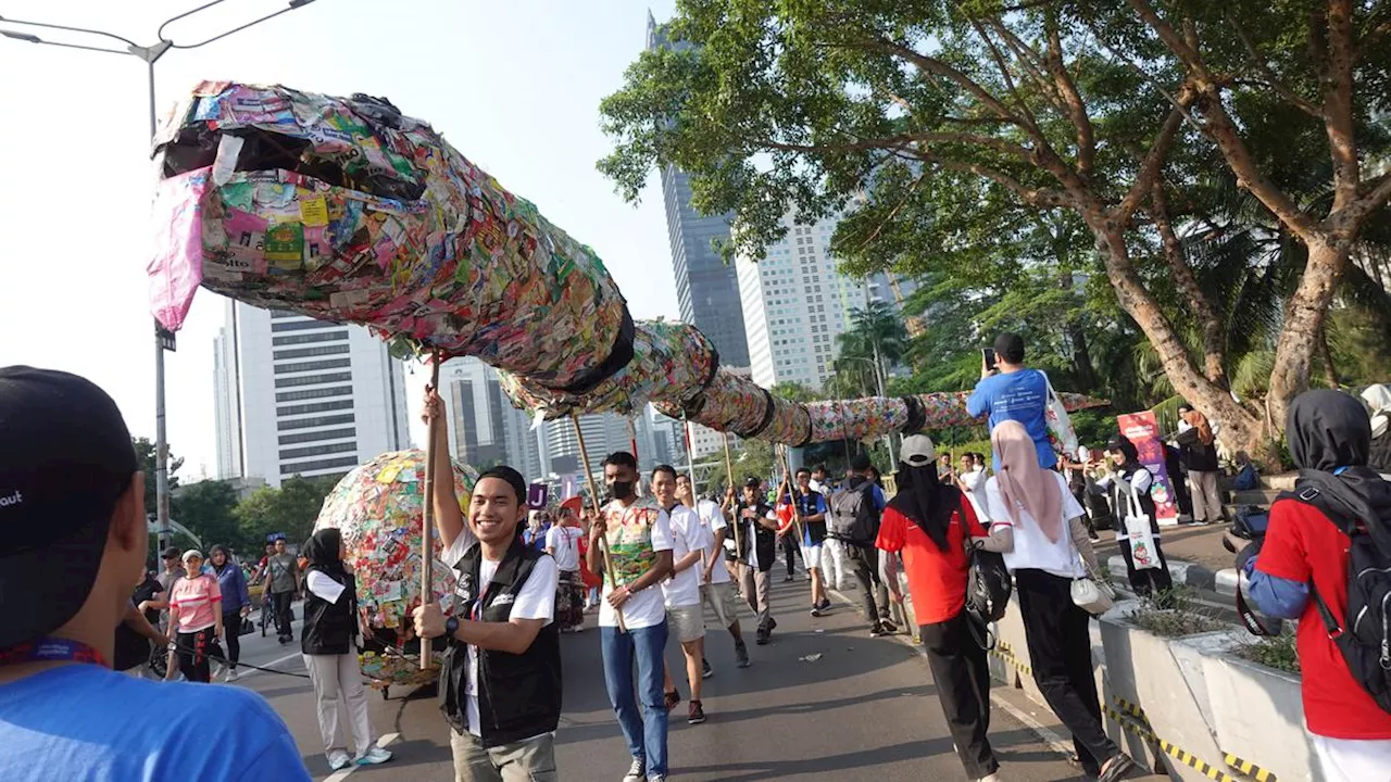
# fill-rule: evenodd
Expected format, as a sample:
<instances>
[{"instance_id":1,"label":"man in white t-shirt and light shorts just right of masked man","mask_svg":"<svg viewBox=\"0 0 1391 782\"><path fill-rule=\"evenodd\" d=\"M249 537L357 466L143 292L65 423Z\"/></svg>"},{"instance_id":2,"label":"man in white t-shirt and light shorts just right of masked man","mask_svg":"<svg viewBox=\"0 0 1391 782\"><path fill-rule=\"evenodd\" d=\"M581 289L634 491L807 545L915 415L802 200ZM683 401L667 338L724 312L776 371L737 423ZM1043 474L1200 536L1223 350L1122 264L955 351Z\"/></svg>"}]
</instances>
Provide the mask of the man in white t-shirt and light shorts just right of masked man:
<instances>
[{"instance_id":1,"label":"man in white t-shirt and light shorts just right of masked man","mask_svg":"<svg viewBox=\"0 0 1391 782\"><path fill-rule=\"evenodd\" d=\"M662 512L666 513L672 527L672 570L675 572L670 579L662 582L662 594L666 598L666 622L682 644L682 654L686 655L686 680L691 687L687 722L700 725L705 722L705 710L700 697L701 664L705 660L705 618L701 614L700 587L709 538L696 511L677 502L676 470L670 465L658 465L652 469L652 495ZM676 690L675 683L668 682L668 693ZM672 701L669 696L666 700Z\"/></svg>"}]
</instances>

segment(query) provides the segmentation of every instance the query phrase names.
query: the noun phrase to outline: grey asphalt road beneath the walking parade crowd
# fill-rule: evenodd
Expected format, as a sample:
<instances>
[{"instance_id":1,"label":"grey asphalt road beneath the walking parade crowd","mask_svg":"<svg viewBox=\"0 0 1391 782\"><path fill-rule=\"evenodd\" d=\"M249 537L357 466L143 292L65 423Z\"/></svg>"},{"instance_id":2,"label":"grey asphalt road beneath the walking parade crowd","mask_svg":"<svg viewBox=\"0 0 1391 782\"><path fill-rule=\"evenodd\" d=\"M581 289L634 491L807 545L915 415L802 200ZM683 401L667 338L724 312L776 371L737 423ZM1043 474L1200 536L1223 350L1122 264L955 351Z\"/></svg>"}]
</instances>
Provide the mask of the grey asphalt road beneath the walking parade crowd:
<instances>
[{"instance_id":1,"label":"grey asphalt road beneath the walking parade crowd","mask_svg":"<svg viewBox=\"0 0 1391 782\"><path fill-rule=\"evenodd\" d=\"M780 568L775 570L780 573ZM733 643L723 629L707 635L715 676L705 680L708 722L686 724L686 704L670 717L670 772L675 779L753 782L764 779L882 782L965 779L951 749L942 707L925 661L894 639L871 639L861 615L837 604L829 616L808 615L808 586L801 577L773 584L779 628L769 646L753 644L754 665L734 667ZM850 597L855 597L850 593ZM600 637L591 626L562 636L565 714L556 733L556 763L566 782L619 782L629 757L604 690ZM714 621L707 612L707 626ZM302 673L298 643L281 647L274 637L246 636L243 658L257 665ZM817 655L814 661L803 658ZM675 640L668 664L680 668ZM682 682L683 696L689 694ZM274 673L243 676L239 686L263 694L289 725L316 779L330 776L314 719L307 679ZM433 693L370 692L373 731L395 753L380 767L357 768L352 782L409 778L453 779L448 729ZM995 708L992 742L1002 776L1011 782L1082 779L1081 772L1046 743ZM332 775L334 782L344 772Z\"/></svg>"}]
</instances>

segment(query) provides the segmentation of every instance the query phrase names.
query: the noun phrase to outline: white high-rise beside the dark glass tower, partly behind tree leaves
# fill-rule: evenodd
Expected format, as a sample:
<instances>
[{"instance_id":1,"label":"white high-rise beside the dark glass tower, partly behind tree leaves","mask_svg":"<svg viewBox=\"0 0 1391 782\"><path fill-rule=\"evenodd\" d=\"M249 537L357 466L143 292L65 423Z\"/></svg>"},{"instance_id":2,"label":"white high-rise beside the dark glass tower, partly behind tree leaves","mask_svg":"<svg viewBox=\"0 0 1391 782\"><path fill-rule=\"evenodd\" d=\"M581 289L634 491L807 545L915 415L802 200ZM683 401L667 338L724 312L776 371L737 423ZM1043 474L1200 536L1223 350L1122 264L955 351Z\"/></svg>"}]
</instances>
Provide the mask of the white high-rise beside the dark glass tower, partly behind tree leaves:
<instances>
[{"instance_id":1,"label":"white high-rise beside the dark glass tower, partly behind tree leaves","mask_svg":"<svg viewBox=\"0 0 1391 782\"><path fill-rule=\"evenodd\" d=\"M785 381L821 388L835 372L836 337L853 326L851 310L872 301L899 309L883 274L854 280L836 270L830 235L837 221L797 225L787 214L787 235L768 246L764 260L736 262L753 380L764 388ZM907 295L911 285L900 289Z\"/></svg>"}]
</instances>

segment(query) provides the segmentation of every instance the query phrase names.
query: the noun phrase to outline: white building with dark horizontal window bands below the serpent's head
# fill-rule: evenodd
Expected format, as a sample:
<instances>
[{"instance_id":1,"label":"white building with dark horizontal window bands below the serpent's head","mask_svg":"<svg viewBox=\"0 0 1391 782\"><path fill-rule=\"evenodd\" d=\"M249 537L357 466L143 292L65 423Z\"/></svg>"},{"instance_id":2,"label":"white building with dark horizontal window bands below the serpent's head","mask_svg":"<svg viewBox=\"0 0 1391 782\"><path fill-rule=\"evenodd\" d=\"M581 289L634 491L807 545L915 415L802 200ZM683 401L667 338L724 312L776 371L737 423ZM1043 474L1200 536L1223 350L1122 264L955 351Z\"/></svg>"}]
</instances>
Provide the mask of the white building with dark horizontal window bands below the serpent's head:
<instances>
[{"instance_id":1,"label":"white building with dark horizontal window bands below the serpent's head","mask_svg":"<svg viewBox=\"0 0 1391 782\"><path fill-rule=\"evenodd\" d=\"M218 479L278 487L410 445L401 362L359 326L228 301L213 401Z\"/></svg>"}]
</instances>

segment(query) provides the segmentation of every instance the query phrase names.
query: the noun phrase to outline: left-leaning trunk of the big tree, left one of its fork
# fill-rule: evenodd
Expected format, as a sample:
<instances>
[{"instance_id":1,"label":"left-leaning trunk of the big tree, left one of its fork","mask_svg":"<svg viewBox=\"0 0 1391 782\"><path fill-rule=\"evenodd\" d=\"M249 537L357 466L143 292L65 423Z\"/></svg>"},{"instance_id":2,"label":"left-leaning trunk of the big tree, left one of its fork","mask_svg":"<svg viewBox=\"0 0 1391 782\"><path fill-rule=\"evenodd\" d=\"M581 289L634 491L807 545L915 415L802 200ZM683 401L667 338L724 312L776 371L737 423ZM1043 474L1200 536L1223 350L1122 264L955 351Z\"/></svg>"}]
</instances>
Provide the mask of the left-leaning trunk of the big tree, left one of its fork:
<instances>
[{"instance_id":1,"label":"left-leaning trunk of the big tree, left one of its fork","mask_svg":"<svg viewBox=\"0 0 1391 782\"><path fill-rule=\"evenodd\" d=\"M1159 353L1164 374L1184 399L1221 424L1221 440L1228 449L1246 451L1269 465L1276 449L1262 420L1237 404L1231 394L1209 380L1193 365L1187 346L1145 288L1131 264L1124 232L1104 214L1091 216L1096 250L1106 262L1106 274L1121 308L1135 319Z\"/></svg>"}]
</instances>

